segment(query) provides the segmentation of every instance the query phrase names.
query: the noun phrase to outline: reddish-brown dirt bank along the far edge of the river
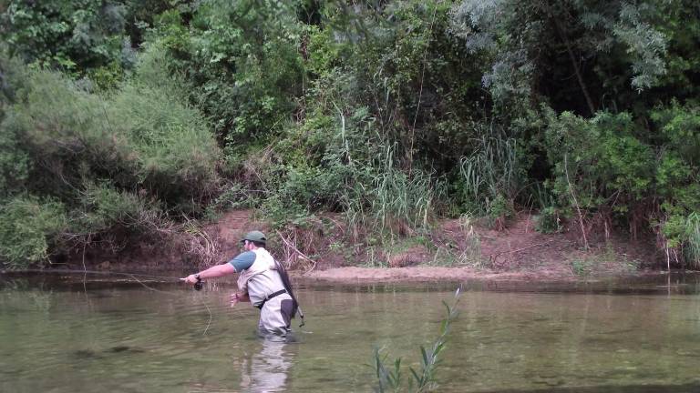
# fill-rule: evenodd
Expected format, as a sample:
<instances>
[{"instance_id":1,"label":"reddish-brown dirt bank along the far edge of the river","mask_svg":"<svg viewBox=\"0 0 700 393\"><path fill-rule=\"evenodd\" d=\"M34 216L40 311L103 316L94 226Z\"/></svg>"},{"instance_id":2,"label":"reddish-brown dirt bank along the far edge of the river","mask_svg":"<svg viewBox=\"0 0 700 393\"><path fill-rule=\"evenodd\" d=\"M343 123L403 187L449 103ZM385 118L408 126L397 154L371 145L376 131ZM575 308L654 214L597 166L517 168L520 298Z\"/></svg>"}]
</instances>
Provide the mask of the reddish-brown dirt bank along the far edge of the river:
<instances>
[{"instance_id":1,"label":"reddish-brown dirt bank along the far edge of the river","mask_svg":"<svg viewBox=\"0 0 700 393\"><path fill-rule=\"evenodd\" d=\"M500 231L465 225L456 219L443 220L430 237L420 237L422 243L414 241L416 235L409 235L405 237L407 247L374 249L371 255L370 247L349 239L339 217L321 217L311 226L276 231L252 214L250 210L229 212L217 223L203 227L204 237L183 235L169 242L143 242L118 255L88 250L86 264L112 271L189 271L233 257L241 251L239 239L252 229L268 234L268 247L273 255L295 270L297 276L345 283L466 279L568 281L580 279L582 274L630 274L634 268L643 267L639 261L652 262L657 257L652 243L633 242L619 235L608 239L593 236L596 240L592 241L592 247L583 251L575 231L541 234L534 230L534 221L527 213L507 222ZM478 248L474 248L475 239ZM478 256L468 263L458 267L438 266L446 255L463 255L469 249L476 249ZM208 253L206 259L201 257L202 250ZM370 256L373 263L386 267L358 267L366 266ZM82 267L81 253L70 258L68 267Z\"/></svg>"}]
</instances>

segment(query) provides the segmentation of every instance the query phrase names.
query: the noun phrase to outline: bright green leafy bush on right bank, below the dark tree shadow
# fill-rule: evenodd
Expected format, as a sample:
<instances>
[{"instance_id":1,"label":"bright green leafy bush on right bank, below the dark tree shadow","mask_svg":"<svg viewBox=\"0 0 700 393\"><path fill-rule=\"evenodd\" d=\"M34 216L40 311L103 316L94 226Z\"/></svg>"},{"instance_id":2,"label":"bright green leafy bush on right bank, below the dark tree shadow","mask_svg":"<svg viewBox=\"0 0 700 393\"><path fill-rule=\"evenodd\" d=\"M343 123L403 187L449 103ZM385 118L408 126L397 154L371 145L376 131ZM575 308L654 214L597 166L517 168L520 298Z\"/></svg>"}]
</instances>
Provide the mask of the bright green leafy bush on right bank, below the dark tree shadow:
<instances>
[{"instance_id":1,"label":"bright green leafy bush on right bank, below the dark tree shadow","mask_svg":"<svg viewBox=\"0 0 700 393\"><path fill-rule=\"evenodd\" d=\"M575 197L582 209L609 206L627 212L643 202L652 190L656 162L629 114L601 112L592 119L545 114L553 192L562 206L573 206Z\"/></svg>"}]
</instances>

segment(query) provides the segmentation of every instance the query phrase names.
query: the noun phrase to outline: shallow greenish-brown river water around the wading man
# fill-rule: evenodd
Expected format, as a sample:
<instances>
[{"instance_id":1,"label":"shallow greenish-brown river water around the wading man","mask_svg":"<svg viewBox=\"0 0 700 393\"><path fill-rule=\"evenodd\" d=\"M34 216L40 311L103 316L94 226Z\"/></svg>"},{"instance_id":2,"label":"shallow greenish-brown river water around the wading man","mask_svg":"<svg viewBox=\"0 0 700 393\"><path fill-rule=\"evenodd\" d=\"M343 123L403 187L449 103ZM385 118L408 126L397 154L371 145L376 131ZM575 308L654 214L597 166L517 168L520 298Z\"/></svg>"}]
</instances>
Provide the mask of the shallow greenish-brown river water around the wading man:
<instances>
[{"instance_id":1,"label":"shallow greenish-brown river water around the wading man","mask_svg":"<svg viewBox=\"0 0 700 393\"><path fill-rule=\"evenodd\" d=\"M463 286L437 391L700 391L698 276ZM232 284L0 276L0 391L372 391L373 348L407 381L456 287L302 283L306 325L274 342Z\"/></svg>"}]
</instances>

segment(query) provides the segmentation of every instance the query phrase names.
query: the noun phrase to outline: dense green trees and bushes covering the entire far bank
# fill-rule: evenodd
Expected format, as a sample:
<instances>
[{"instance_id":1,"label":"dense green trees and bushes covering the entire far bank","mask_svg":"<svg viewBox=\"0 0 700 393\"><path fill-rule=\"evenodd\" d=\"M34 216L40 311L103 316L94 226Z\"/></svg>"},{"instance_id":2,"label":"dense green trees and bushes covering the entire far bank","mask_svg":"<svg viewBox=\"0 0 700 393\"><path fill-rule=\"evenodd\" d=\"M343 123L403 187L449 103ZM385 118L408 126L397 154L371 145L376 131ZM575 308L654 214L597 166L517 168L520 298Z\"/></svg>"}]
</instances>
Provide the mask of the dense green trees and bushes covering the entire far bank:
<instances>
[{"instance_id":1,"label":"dense green trees and bushes covering the entire far bank","mask_svg":"<svg viewBox=\"0 0 700 393\"><path fill-rule=\"evenodd\" d=\"M0 2L10 266L238 206L367 242L532 207L700 265L697 2L142 3Z\"/></svg>"}]
</instances>

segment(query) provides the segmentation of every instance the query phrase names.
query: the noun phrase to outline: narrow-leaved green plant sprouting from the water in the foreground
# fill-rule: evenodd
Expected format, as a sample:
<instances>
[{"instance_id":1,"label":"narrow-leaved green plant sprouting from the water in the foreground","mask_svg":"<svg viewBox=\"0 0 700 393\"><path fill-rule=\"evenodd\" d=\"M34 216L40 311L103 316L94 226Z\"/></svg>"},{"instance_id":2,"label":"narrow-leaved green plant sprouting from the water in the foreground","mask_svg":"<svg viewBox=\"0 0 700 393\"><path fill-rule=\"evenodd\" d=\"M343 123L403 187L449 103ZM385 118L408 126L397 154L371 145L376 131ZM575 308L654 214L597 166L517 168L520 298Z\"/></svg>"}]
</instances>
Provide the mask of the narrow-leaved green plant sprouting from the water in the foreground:
<instances>
[{"instance_id":1,"label":"narrow-leaved green plant sprouting from the water in the foreground","mask_svg":"<svg viewBox=\"0 0 700 393\"><path fill-rule=\"evenodd\" d=\"M404 374L401 368L401 358L396 358L391 363L391 367L386 366L386 355L382 354L382 350L375 348L372 367L375 369L377 385L375 391L378 393L385 392L427 392L438 388L436 373L440 362L440 354L445 350L448 342L449 327L452 322L458 317L457 305L461 296L461 287L455 291L452 306L443 301L442 304L446 309L446 316L440 323L440 334L429 347L420 347L420 368L408 368L411 373L411 379L407 382L405 388Z\"/></svg>"}]
</instances>

